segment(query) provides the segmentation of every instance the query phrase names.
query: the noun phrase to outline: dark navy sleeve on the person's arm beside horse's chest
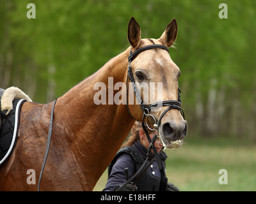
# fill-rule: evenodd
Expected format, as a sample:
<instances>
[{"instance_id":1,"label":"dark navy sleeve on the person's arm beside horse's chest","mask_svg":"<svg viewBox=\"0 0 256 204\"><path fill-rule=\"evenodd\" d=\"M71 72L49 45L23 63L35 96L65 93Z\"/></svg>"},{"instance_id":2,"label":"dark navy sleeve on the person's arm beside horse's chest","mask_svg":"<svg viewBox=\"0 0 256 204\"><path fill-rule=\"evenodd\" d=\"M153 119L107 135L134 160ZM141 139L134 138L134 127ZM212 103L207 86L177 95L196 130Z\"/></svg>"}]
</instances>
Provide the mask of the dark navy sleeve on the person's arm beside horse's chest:
<instances>
[{"instance_id":1,"label":"dark navy sleeve on the person's arm beside horse's chest","mask_svg":"<svg viewBox=\"0 0 256 204\"><path fill-rule=\"evenodd\" d=\"M128 168L129 175L132 177L134 171L134 164L129 154L121 154L116 163L113 165L111 173L108 177L108 182L103 191L115 191L115 187L124 184L126 180L125 168Z\"/></svg>"}]
</instances>

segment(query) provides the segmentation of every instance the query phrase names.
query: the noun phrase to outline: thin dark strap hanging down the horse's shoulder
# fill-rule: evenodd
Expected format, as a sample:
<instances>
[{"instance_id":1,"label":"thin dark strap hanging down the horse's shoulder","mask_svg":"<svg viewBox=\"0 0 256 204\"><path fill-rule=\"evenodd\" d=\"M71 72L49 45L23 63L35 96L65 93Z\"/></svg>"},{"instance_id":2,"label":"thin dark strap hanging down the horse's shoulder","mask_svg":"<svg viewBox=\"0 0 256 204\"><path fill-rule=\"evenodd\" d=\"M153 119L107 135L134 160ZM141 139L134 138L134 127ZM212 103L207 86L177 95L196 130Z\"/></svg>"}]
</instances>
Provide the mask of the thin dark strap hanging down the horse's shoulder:
<instances>
[{"instance_id":1,"label":"thin dark strap hanging down the horse's shoulder","mask_svg":"<svg viewBox=\"0 0 256 204\"><path fill-rule=\"evenodd\" d=\"M53 102L53 105L52 105L51 121L50 121L49 130L48 130L46 150L45 150L45 155L44 155L44 161L43 161L42 169L41 169L40 176L39 176L37 191L40 191L40 182L41 182L41 179L42 179L42 175L43 175L43 171L44 171L44 166L45 166L46 159L47 159L47 156L48 156L48 152L49 152L49 149L50 149L51 138L52 138L53 112L54 112L54 106L55 106L55 103L56 103L57 99L58 98L55 99L55 101Z\"/></svg>"}]
</instances>

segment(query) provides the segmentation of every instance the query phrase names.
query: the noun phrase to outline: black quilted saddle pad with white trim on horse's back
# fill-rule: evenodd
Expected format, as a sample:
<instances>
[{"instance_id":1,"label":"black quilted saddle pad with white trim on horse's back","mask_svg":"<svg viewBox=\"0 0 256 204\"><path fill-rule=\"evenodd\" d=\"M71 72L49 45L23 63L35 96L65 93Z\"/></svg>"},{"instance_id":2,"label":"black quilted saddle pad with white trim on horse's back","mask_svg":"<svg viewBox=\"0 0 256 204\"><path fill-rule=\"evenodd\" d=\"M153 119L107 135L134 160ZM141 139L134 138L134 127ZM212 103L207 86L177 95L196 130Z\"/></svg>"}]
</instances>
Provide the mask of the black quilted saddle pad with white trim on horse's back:
<instances>
[{"instance_id":1,"label":"black quilted saddle pad with white trim on horse's back","mask_svg":"<svg viewBox=\"0 0 256 204\"><path fill-rule=\"evenodd\" d=\"M0 129L0 166L10 157L15 147L19 132L20 108L25 102L25 99L14 99L13 110L6 116L1 112L4 118Z\"/></svg>"}]
</instances>

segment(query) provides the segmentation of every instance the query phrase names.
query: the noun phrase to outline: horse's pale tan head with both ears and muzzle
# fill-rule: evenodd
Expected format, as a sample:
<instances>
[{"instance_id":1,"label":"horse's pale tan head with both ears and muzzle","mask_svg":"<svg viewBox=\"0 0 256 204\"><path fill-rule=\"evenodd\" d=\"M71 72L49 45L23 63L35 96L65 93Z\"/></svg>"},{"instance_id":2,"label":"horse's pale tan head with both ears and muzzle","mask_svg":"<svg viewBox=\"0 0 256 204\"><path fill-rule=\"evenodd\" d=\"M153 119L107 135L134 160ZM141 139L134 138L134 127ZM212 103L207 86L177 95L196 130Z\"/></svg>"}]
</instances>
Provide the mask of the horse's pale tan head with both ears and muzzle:
<instances>
[{"instance_id":1,"label":"horse's pale tan head with both ears and muzzle","mask_svg":"<svg viewBox=\"0 0 256 204\"><path fill-rule=\"evenodd\" d=\"M161 123L157 127L157 132L165 147L171 147L175 141L182 141L188 131L188 125L182 117L181 108L169 108L163 106L163 101L179 102L180 69L172 61L170 55L164 50L172 47L177 36L177 22L175 19L167 25L164 33L159 39L141 39L140 25L132 17L128 25L128 40L131 45L131 54L149 45L162 45L160 48L145 49L140 54L134 56L129 62L134 78L136 89L140 92L141 99L147 107L148 105L159 103L150 110L150 116L146 119L149 126ZM157 47L157 46L155 46ZM130 54L130 56L131 56ZM162 103L162 106L161 106ZM179 104L178 104L179 105ZM141 106L128 105L134 119L141 119L148 110L141 111ZM142 108L143 109L143 108ZM153 110L154 109L154 110ZM168 110L167 110L168 109ZM147 121L148 120L148 121ZM156 120L156 121L154 121Z\"/></svg>"}]
</instances>

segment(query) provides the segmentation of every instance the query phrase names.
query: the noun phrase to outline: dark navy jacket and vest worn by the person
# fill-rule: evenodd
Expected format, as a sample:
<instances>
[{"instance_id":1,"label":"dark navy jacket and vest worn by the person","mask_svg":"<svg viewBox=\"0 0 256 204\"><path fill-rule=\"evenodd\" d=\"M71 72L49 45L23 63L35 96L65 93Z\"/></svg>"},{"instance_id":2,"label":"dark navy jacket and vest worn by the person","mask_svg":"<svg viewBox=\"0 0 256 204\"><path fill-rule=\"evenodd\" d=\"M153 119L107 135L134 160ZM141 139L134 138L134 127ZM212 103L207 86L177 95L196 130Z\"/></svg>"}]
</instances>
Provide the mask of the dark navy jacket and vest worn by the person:
<instances>
[{"instance_id":1,"label":"dark navy jacket and vest worn by the person","mask_svg":"<svg viewBox=\"0 0 256 204\"><path fill-rule=\"evenodd\" d=\"M154 154L151 155L154 157ZM147 157L147 149L137 140L132 146L127 146L118 151L115 158L109 164L108 182L103 191L115 191L118 186L124 184L127 179L125 168L128 168L129 175L132 177ZM160 154L163 164L162 170L159 170L157 161L147 169L143 176L138 180L136 187L138 191L165 191L167 187L167 178L165 175L165 159L164 152ZM149 163L149 161L148 161Z\"/></svg>"}]
</instances>

